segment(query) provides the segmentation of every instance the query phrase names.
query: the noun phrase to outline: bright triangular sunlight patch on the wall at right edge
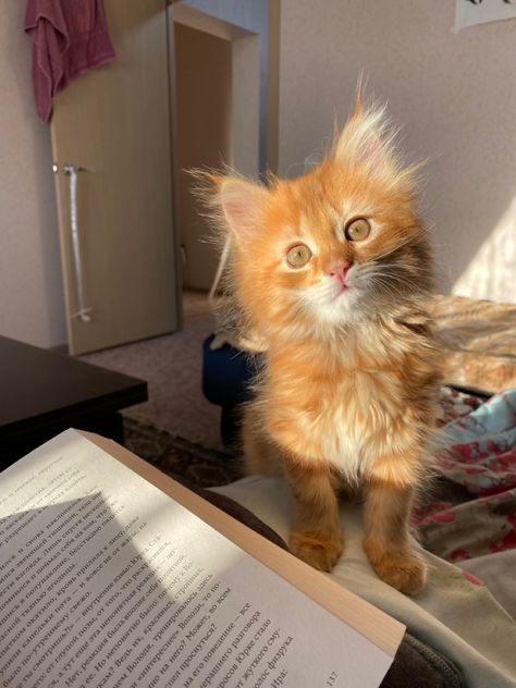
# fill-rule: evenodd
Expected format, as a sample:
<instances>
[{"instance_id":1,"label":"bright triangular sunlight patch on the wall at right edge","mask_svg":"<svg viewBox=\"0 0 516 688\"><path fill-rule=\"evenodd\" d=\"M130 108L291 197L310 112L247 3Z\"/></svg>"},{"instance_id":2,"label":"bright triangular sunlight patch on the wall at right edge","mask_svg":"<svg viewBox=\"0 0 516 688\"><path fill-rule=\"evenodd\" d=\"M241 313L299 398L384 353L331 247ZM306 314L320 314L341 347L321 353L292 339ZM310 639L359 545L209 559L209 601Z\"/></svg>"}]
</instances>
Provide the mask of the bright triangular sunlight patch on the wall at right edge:
<instances>
[{"instance_id":1,"label":"bright triangular sunlight patch on the wall at right edge","mask_svg":"<svg viewBox=\"0 0 516 688\"><path fill-rule=\"evenodd\" d=\"M516 196L453 285L452 294L516 303Z\"/></svg>"}]
</instances>

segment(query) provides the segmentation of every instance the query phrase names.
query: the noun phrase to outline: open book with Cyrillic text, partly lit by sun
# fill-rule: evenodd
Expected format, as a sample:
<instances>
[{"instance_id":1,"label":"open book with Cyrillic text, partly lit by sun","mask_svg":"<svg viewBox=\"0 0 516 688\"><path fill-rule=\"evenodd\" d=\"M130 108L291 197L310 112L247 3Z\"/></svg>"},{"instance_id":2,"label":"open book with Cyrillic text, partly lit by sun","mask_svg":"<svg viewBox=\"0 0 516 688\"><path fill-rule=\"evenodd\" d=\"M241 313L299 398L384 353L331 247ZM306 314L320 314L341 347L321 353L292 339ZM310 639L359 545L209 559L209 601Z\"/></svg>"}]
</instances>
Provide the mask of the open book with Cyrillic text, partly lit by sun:
<instances>
[{"instance_id":1,"label":"open book with Cyrillic text, partly lit by sun","mask_svg":"<svg viewBox=\"0 0 516 688\"><path fill-rule=\"evenodd\" d=\"M378 686L404 626L115 443L0 475L3 686Z\"/></svg>"}]
</instances>

